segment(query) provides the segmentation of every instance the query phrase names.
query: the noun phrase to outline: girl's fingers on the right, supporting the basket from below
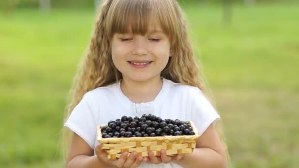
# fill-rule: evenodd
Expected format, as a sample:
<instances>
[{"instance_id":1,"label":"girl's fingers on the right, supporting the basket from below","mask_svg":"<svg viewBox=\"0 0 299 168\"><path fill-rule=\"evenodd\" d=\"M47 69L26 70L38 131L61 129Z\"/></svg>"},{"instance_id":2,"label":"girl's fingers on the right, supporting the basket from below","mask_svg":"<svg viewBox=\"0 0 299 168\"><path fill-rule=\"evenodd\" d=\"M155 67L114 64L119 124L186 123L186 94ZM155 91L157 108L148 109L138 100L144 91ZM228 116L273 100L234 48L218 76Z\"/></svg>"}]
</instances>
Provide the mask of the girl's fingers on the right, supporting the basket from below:
<instances>
[{"instance_id":1,"label":"girl's fingers on the right, supporting the basket from below","mask_svg":"<svg viewBox=\"0 0 299 168\"><path fill-rule=\"evenodd\" d=\"M164 149L162 149L160 151L161 156L160 157L156 157L154 156L154 154L152 153L152 151L149 151L149 157L145 157L143 158L144 162L147 163L151 163L151 164L160 164L160 163L169 163L171 161L179 161L182 159L183 155L177 155L177 156L167 156L166 155L166 151Z\"/></svg>"}]
</instances>

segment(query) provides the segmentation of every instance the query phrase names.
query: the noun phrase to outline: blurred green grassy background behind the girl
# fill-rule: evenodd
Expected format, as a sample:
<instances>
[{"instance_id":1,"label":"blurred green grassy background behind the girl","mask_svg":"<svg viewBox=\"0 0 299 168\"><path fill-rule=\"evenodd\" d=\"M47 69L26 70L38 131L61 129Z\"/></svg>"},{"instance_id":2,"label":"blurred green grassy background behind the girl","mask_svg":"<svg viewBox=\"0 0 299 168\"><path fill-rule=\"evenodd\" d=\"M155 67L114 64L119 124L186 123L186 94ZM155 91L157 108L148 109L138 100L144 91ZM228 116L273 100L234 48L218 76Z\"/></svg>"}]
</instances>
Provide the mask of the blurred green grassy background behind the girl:
<instances>
[{"instance_id":1,"label":"blurred green grassy background behind the girl","mask_svg":"<svg viewBox=\"0 0 299 168\"><path fill-rule=\"evenodd\" d=\"M299 168L299 1L180 0L234 168ZM0 0L0 165L62 168L97 0Z\"/></svg>"}]
</instances>

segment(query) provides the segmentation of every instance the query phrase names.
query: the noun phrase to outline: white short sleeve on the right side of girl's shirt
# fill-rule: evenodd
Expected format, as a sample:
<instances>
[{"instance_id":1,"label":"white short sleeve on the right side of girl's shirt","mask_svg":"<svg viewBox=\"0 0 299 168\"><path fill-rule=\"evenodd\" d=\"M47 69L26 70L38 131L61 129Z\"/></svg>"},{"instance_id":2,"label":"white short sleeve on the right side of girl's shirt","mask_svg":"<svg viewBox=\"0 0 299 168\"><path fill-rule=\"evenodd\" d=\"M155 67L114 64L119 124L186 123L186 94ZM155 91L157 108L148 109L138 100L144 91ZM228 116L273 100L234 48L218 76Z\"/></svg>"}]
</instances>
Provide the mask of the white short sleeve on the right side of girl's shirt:
<instances>
[{"instance_id":1,"label":"white short sleeve on the right side of girl's shirt","mask_svg":"<svg viewBox=\"0 0 299 168\"><path fill-rule=\"evenodd\" d=\"M210 124L220 119L219 114L215 111L202 91L198 88L192 90L192 108L191 120L198 129L199 135L202 135Z\"/></svg>"}]
</instances>

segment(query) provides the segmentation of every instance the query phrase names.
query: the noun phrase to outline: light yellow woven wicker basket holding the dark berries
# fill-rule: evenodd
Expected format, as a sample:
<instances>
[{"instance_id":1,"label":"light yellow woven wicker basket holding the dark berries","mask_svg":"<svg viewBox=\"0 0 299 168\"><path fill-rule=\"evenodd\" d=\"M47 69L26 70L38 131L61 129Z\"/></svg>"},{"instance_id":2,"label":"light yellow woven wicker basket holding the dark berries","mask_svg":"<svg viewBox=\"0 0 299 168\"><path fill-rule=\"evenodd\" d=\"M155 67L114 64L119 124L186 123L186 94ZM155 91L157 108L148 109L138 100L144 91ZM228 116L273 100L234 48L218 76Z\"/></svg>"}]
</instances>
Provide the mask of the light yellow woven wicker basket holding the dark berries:
<instances>
[{"instance_id":1,"label":"light yellow woven wicker basket holding the dark berries","mask_svg":"<svg viewBox=\"0 0 299 168\"><path fill-rule=\"evenodd\" d=\"M109 159L120 158L124 151L129 154L137 152L137 156L148 156L152 151L155 156L160 156L160 150L165 149L167 155L190 154L195 148L199 138L198 130L192 121L189 121L195 135L192 136L163 136L163 137L131 137L131 138L102 138L101 125L98 127L98 141L102 149L106 149ZM128 155L129 156L129 155Z\"/></svg>"}]
</instances>

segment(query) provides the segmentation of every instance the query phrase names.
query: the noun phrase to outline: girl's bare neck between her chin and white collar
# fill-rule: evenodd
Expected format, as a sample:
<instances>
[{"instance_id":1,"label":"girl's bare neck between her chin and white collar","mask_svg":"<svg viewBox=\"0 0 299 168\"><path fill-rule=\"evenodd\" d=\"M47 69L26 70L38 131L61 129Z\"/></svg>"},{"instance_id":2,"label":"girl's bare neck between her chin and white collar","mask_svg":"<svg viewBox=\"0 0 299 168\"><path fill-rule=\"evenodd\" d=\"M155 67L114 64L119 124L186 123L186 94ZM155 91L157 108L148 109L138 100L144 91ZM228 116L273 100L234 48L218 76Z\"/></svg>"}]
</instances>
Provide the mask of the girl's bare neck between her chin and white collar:
<instances>
[{"instance_id":1,"label":"girl's bare neck between her chin and white collar","mask_svg":"<svg viewBox=\"0 0 299 168\"><path fill-rule=\"evenodd\" d=\"M120 88L123 94L134 103L145 103L153 101L160 92L163 85L161 78L150 79L145 82L136 82L122 79Z\"/></svg>"}]
</instances>

